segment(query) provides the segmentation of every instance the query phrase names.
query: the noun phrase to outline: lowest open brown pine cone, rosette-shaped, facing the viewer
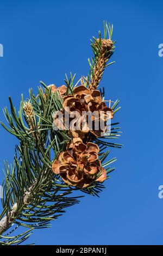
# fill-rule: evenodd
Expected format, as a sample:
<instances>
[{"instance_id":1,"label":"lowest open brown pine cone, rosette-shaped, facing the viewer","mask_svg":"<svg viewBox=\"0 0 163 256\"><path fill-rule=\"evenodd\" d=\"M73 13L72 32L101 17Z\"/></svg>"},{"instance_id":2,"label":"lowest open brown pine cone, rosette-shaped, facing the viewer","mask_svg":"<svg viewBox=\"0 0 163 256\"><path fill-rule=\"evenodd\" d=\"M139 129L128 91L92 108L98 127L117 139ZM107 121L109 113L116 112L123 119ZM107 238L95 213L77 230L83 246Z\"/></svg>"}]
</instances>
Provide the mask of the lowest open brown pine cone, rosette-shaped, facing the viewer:
<instances>
[{"instance_id":1,"label":"lowest open brown pine cone, rosette-shaped, facing the viewer","mask_svg":"<svg viewBox=\"0 0 163 256\"><path fill-rule=\"evenodd\" d=\"M60 174L66 184L86 188L92 182L103 182L106 170L98 160L99 148L95 143L84 144L82 139L73 138L67 151L61 152L52 165L53 172Z\"/></svg>"}]
</instances>

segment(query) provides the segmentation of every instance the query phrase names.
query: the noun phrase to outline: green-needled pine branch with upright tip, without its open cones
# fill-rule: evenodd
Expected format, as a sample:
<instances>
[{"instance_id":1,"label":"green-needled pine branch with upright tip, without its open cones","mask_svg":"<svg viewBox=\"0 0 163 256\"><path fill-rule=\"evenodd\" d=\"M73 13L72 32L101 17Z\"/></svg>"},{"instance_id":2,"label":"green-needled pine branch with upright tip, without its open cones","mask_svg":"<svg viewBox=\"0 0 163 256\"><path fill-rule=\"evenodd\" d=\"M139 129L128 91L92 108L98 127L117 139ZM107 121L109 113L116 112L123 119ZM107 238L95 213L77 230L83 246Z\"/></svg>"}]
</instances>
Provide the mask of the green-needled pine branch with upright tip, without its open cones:
<instances>
[{"instance_id":1,"label":"green-needled pine branch with upright tip, without its open cones","mask_svg":"<svg viewBox=\"0 0 163 256\"><path fill-rule=\"evenodd\" d=\"M91 47L94 57L89 59L90 73L86 77L81 77L76 84L74 83L75 75L72 76L72 74L70 78L66 76L66 87L57 88L40 82L37 95L34 95L32 89L29 90L28 100L24 100L22 95L18 113L9 97L10 113L7 107L4 108L8 125L2 123L2 126L17 137L19 144L15 147L14 163L10 166L8 162L5 162L3 170L1 245L20 245L28 239L34 229L50 227L51 221L62 215L65 208L78 204L80 197L83 197L83 195L73 197L74 190L98 196L104 188L102 180L98 179L101 175L99 173L96 179L95 176L91 176L91 179L89 176L90 184L79 187L66 182L64 179L67 178L63 178L63 175L56 174L57 167L54 164L58 161L60 154L66 151L67 145L70 149L73 137L70 131L54 129L54 114L63 108L64 97L68 95L72 97L79 83L90 92L95 90L97 92L104 69L113 63L108 64L115 50L115 41L112 41L112 26L104 22L103 38L99 32L98 38L93 37L91 40ZM64 96L62 90L64 90ZM103 88L101 90L102 101L106 102L104 94ZM93 100L96 101L96 96ZM113 115L120 109L117 107L119 101L113 102L112 106L111 103L110 100L109 107ZM109 139L116 139L120 136L120 131L118 131L120 127L117 127L117 124L111 124L109 134L100 137L88 133L86 137L82 137L81 142L82 145L96 143L100 150L98 159L102 163L99 169L105 168L107 179L110 177L110 172L114 170L110 164L116 160L113 158L105 162L110 153L107 148L121 148L121 144L109 141ZM23 227L24 231L17 235L19 227Z\"/></svg>"}]
</instances>

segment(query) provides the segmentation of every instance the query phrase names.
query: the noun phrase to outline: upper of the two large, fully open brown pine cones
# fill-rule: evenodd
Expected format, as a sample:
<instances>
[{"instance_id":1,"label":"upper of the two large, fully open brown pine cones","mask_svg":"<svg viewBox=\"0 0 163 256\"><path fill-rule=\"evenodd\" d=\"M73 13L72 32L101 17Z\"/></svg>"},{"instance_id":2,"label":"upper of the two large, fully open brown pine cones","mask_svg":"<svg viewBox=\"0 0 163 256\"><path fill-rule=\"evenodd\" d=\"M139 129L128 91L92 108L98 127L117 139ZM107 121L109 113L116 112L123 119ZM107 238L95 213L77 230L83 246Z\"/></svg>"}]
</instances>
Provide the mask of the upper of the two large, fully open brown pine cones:
<instances>
[{"instance_id":1,"label":"upper of the two large, fully open brown pine cones","mask_svg":"<svg viewBox=\"0 0 163 256\"><path fill-rule=\"evenodd\" d=\"M107 107L105 102L102 101L101 92L88 89L85 86L74 88L73 95L64 97L62 106L63 121L66 123L66 116L68 116L68 123L70 124L69 133L73 138L80 137L83 139L89 132L96 137L102 136L106 131L106 121L109 118L113 118L114 115L112 109ZM85 119L84 112L91 114L91 125L89 125L88 119ZM93 112L96 114L92 115ZM108 113L110 114L108 115ZM63 128L63 122L58 121L58 117L59 112L54 115L54 125L60 129L59 124ZM101 127L100 121L102 120L104 125Z\"/></svg>"}]
</instances>

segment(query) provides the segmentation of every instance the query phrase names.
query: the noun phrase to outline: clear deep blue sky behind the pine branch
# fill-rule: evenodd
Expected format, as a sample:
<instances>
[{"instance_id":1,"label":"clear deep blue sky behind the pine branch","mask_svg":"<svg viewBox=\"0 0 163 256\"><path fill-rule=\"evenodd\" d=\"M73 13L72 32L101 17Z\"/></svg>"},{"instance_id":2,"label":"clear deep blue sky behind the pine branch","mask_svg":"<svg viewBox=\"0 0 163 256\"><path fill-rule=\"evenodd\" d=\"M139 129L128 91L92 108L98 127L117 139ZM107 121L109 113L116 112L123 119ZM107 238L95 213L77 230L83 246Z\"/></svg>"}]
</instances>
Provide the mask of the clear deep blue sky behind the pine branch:
<instances>
[{"instance_id":1,"label":"clear deep blue sky behind the pine branch","mask_svg":"<svg viewBox=\"0 0 163 256\"><path fill-rule=\"evenodd\" d=\"M116 52L104 74L108 98L121 100L116 120L121 122L123 149L113 149L116 171L106 181L100 198L85 197L79 205L35 231L28 242L37 245L163 244L162 157L162 1L1 1L0 119L8 96L18 106L21 93L46 84L63 83L65 72L77 78L89 70L90 38L103 20L114 24ZM0 128L3 160L12 162L14 145ZM0 175L2 181L2 172ZM1 184L1 182L0 182Z\"/></svg>"}]
</instances>

